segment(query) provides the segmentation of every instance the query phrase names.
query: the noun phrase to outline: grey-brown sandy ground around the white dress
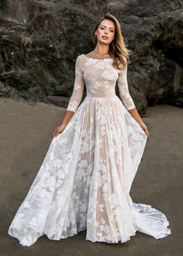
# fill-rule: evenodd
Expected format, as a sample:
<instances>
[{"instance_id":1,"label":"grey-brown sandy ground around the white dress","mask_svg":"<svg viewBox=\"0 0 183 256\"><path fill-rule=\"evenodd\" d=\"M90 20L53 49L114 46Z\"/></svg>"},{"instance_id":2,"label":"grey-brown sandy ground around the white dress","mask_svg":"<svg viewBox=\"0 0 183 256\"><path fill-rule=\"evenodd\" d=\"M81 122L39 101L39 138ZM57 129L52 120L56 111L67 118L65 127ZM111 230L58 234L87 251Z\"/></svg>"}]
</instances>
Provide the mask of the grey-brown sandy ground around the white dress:
<instances>
[{"instance_id":1,"label":"grey-brown sandy ground around the white dress","mask_svg":"<svg viewBox=\"0 0 183 256\"><path fill-rule=\"evenodd\" d=\"M147 110L144 122L150 137L130 195L133 202L161 210L170 222L171 235L155 240L137 231L124 244L106 244L85 240L83 231L59 241L44 235L31 247L22 247L9 236L12 218L26 197L65 111L45 103L0 99L0 255L182 255L183 109L167 105Z\"/></svg>"}]
</instances>

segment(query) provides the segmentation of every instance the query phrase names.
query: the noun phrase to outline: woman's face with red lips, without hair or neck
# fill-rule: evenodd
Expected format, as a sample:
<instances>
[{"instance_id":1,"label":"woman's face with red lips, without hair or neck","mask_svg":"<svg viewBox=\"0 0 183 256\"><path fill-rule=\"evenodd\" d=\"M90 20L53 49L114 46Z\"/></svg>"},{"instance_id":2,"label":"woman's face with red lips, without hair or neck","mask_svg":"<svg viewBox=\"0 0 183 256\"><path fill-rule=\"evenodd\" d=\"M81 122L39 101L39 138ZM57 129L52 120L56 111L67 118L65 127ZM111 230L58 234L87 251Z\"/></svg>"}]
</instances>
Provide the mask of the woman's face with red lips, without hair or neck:
<instances>
[{"instance_id":1,"label":"woman's face with red lips, without hair or neck","mask_svg":"<svg viewBox=\"0 0 183 256\"><path fill-rule=\"evenodd\" d=\"M98 29L95 31L98 41L102 43L111 43L115 38L115 24L110 19L104 19L100 22Z\"/></svg>"}]
</instances>

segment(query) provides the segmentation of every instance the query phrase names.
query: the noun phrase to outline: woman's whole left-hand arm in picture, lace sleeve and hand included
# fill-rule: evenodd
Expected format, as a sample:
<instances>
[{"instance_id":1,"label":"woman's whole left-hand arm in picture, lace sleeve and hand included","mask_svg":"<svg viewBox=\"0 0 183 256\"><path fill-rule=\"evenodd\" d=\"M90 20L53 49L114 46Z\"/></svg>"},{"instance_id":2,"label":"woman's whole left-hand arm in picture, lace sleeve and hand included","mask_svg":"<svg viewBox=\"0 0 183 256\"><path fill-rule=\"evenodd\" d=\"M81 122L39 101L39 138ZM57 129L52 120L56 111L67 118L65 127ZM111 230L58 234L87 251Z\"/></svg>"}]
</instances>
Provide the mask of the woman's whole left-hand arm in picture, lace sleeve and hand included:
<instances>
[{"instance_id":1,"label":"woman's whole left-hand arm in picture, lace sleeve and hand included","mask_svg":"<svg viewBox=\"0 0 183 256\"><path fill-rule=\"evenodd\" d=\"M54 137L57 137L57 135L65 129L65 127L71 120L72 116L74 116L74 112L76 112L79 104L81 103L84 87L85 87L85 80L83 78L83 74L81 71L81 58L80 56L78 56L75 64L74 89L71 95L71 99L68 102L67 112L64 115L64 119L60 124L60 126L58 126L54 130L54 133L53 133Z\"/></svg>"}]
</instances>

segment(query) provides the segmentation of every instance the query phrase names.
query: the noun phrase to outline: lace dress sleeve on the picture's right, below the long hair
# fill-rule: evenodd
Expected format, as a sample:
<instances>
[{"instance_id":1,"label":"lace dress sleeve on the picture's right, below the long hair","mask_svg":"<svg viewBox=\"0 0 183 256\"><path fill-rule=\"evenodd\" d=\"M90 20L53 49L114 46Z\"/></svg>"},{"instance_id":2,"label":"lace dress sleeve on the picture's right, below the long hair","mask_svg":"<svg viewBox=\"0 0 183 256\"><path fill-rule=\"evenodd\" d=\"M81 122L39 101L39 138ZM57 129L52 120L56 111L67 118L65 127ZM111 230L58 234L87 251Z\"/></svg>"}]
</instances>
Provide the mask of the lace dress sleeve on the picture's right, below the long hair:
<instances>
[{"instance_id":1,"label":"lace dress sleeve on the picture's right, below the long hair","mask_svg":"<svg viewBox=\"0 0 183 256\"><path fill-rule=\"evenodd\" d=\"M119 71L119 78L118 78L118 88L119 88L119 95L121 100L123 101L124 106L126 109L134 109L136 108L131 95L129 94L129 86L127 81L127 65L122 70Z\"/></svg>"}]
</instances>

